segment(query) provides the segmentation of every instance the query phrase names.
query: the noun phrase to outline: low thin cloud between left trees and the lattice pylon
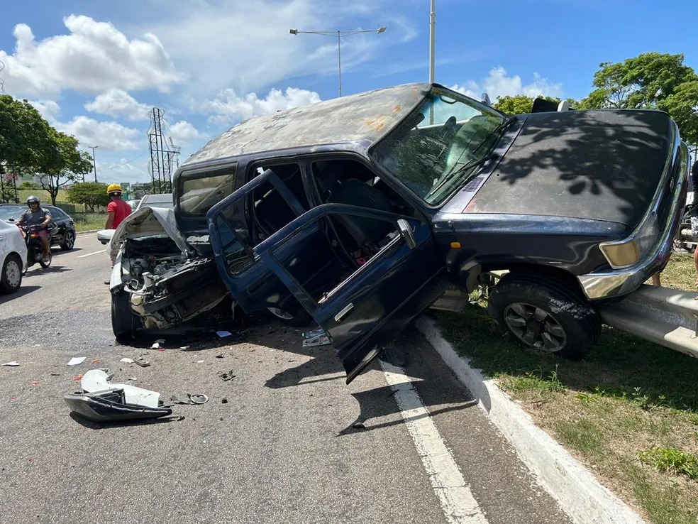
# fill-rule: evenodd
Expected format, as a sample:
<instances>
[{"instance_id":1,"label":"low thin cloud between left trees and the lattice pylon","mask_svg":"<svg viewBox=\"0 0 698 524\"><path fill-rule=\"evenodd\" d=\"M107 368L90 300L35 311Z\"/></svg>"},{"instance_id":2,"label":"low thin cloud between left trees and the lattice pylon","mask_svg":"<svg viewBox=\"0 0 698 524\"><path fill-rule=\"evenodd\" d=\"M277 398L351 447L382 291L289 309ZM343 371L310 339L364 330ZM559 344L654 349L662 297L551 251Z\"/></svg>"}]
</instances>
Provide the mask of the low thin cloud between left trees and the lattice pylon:
<instances>
[{"instance_id":1,"label":"low thin cloud between left trees and the lattice pylon","mask_svg":"<svg viewBox=\"0 0 698 524\"><path fill-rule=\"evenodd\" d=\"M82 148L99 146L102 151L139 148L133 141L138 135L138 130L122 126L118 122L99 122L87 116L76 116L70 122L56 124L56 129L77 138ZM143 141L145 142L145 136Z\"/></svg>"}]
</instances>

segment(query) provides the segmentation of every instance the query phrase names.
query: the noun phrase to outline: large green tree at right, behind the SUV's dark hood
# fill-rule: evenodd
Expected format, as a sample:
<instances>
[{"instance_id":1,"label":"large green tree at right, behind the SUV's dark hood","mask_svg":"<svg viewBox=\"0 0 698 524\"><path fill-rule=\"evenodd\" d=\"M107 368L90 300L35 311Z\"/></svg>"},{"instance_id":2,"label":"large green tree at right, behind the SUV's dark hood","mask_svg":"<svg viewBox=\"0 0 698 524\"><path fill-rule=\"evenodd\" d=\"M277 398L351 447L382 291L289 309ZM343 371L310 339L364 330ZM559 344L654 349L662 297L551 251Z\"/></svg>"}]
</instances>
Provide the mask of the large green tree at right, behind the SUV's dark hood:
<instances>
[{"instance_id":1,"label":"large green tree at right, behind the SUV's dark hood","mask_svg":"<svg viewBox=\"0 0 698 524\"><path fill-rule=\"evenodd\" d=\"M624 62L602 62L594 89L580 109L660 109L676 121L682 138L698 142L698 75L684 55L643 53Z\"/></svg>"}]
</instances>

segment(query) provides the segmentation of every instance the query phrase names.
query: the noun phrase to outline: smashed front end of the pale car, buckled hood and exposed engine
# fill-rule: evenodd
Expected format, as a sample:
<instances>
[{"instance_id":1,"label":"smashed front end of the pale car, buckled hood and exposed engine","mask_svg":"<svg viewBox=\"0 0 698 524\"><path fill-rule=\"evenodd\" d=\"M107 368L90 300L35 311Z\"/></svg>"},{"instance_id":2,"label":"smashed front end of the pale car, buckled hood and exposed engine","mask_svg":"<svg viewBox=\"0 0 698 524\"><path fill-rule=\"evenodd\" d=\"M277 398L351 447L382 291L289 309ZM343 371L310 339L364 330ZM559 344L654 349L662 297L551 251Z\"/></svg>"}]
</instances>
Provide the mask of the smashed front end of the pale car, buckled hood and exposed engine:
<instances>
[{"instance_id":1,"label":"smashed front end of the pale car, buckled hood and exposed engine","mask_svg":"<svg viewBox=\"0 0 698 524\"><path fill-rule=\"evenodd\" d=\"M113 244L118 243L115 269L119 273L118 277L112 274L111 291L128 295L133 315L145 328L165 329L187 322L228 295L214 259L190 249L176 228L171 230L171 213L170 209L139 210L126 219L130 224L125 231L115 231L110 244L110 249L117 249Z\"/></svg>"}]
</instances>

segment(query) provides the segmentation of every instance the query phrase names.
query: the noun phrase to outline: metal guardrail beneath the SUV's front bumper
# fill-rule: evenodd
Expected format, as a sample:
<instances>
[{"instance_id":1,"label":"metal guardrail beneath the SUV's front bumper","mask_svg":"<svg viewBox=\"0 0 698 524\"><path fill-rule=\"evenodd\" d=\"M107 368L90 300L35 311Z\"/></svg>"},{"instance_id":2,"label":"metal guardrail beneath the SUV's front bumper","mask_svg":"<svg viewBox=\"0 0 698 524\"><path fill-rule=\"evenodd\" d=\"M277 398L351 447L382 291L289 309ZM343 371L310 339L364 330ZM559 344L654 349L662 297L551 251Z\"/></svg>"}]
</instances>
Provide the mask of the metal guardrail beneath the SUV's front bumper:
<instances>
[{"instance_id":1,"label":"metal guardrail beneath the SUV's front bumper","mask_svg":"<svg viewBox=\"0 0 698 524\"><path fill-rule=\"evenodd\" d=\"M599 310L604 324L698 358L696 297L698 293L644 284Z\"/></svg>"}]
</instances>

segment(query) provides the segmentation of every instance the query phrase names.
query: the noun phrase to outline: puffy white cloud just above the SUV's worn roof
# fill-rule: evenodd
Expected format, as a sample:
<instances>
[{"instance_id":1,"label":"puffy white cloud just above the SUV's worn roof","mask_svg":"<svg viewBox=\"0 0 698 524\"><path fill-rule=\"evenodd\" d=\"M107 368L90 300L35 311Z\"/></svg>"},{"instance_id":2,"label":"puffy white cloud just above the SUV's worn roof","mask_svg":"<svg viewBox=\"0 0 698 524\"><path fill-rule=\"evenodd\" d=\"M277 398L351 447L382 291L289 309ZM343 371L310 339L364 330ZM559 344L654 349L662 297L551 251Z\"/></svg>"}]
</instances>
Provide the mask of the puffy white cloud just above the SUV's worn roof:
<instances>
[{"instance_id":1,"label":"puffy white cloud just above the SUV's worn roof","mask_svg":"<svg viewBox=\"0 0 698 524\"><path fill-rule=\"evenodd\" d=\"M235 89L223 89L213 100L201 104L204 114L210 114L209 121L218 124L232 124L253 116L275 113L292 107L301 107L320 102L320 95L314 91L287 87L286 92L272 89L267 97L259 98L257 93L238 97Z\"/></svg>"}]
</instances>

